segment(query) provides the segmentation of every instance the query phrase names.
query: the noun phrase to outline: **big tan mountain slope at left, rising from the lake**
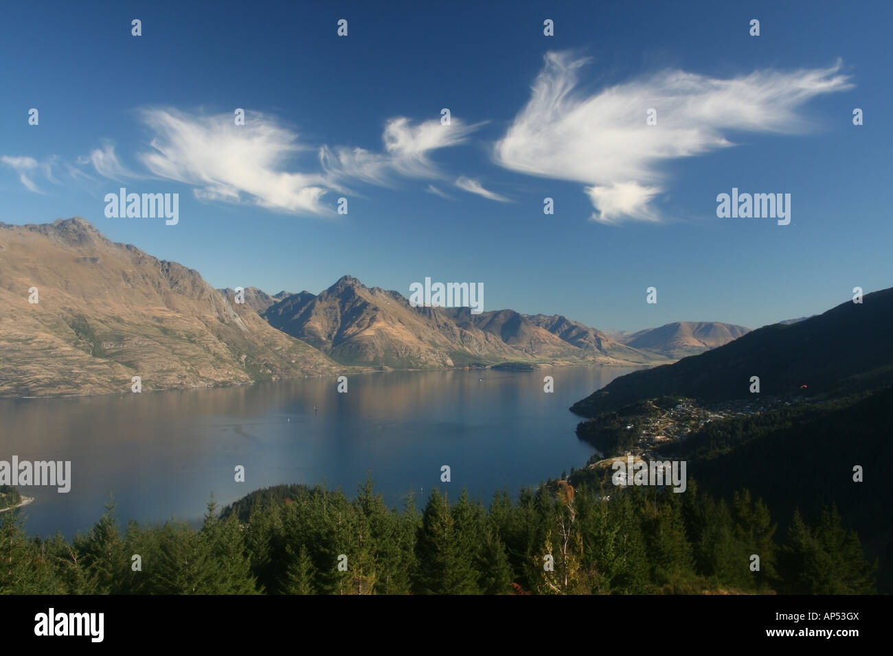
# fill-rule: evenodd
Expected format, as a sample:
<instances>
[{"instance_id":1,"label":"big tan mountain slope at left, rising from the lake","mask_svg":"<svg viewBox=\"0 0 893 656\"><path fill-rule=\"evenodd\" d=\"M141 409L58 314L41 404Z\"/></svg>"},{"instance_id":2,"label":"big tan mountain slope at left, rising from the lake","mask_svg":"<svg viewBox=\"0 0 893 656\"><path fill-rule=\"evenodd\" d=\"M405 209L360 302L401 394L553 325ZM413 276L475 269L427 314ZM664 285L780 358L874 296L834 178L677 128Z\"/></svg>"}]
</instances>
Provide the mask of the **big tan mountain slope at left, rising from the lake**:
<instances>
[{"instance_id":1,"label":"big tan mountain slope at left, rising from the lake","mask_svg":"<svg viewBox=\"0 0 893 656\"><path fill-rule=\"evenodd\" d=\"M0 394L129 393L133 376L148 391L342 370L197 271L115 244L86 220L0 223Z\"/></svg>"}]
</instances>

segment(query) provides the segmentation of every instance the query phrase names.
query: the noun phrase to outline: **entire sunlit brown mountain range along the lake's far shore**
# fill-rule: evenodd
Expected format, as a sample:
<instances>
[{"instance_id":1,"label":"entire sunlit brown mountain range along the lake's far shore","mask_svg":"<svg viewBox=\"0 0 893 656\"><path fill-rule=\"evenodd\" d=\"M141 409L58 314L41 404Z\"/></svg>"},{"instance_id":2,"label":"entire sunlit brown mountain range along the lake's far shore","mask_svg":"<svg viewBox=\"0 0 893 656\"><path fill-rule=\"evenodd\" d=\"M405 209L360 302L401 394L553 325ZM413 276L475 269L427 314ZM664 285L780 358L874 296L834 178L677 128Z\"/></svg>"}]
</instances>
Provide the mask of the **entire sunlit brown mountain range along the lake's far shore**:
<instances>
[{"instance_id":1,"label":"entire sunlit brown mountain range along the lake's far shore","mask_svg":"<svg viewBox=\"0 0 893 656\"><path fill-rule=\"evenodd\" d=\"M648 366L747 331L682 322L615 339L560 315L413 307L350 276L319 295L249 286L236 301L80 218L0 223L0 394L129 392L135 376L153 390L368 368Z\"/></svg>"}]
</instances>

